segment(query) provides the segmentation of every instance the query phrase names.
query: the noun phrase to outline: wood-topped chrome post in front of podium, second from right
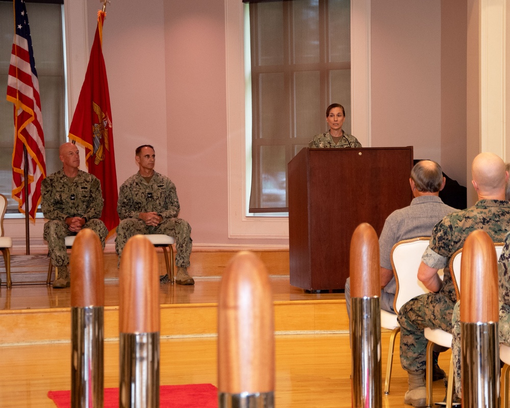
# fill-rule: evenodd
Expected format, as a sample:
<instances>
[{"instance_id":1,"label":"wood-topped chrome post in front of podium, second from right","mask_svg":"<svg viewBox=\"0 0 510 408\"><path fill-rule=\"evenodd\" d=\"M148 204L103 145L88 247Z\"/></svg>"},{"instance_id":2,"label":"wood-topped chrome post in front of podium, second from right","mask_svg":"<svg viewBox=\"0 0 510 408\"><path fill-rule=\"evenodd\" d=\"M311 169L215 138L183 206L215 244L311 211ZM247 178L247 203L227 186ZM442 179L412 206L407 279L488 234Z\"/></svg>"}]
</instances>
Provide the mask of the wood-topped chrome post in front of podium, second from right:
<instances>
[{"instance_id":1,"label":"wood-topped chrome post in front of podium, second from right","mask_svg":"<svg viewBox=\"0 0 510 408\"><path fill-rule=\"evenodd\" d=\"M358 225L350 246L352 406L382 406L379 242Z\"/></svg>"}]
</instances>

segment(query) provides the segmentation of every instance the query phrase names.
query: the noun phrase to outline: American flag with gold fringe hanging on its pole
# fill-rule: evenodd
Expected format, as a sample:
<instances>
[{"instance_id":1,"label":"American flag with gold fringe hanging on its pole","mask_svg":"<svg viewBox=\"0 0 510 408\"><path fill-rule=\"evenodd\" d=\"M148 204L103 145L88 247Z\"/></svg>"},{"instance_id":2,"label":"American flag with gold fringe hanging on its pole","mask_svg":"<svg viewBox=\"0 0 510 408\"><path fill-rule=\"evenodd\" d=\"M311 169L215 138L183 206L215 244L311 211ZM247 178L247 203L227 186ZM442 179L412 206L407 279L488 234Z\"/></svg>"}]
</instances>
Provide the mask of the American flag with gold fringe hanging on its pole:
<instances>
[{"instance_id":1,"label":"American flag with gold fringe hanging on its pole","mask_svg":"<svg viewBox=\"0 0 510 408\"><path fill-rule=\"evenodd\" d=\"M41 98L24 1L14 0L14 10L16 27L7 79L7 100L14 104L12 197L18 201L19 212L24 214L24 184L28 182L28 211L35 221L35 213L41 201L41 182L46 176ZM23 146L27 148L28 163L25 163ZM25 166L28 180L24 177Z\"/></svg>"}]
</instances>

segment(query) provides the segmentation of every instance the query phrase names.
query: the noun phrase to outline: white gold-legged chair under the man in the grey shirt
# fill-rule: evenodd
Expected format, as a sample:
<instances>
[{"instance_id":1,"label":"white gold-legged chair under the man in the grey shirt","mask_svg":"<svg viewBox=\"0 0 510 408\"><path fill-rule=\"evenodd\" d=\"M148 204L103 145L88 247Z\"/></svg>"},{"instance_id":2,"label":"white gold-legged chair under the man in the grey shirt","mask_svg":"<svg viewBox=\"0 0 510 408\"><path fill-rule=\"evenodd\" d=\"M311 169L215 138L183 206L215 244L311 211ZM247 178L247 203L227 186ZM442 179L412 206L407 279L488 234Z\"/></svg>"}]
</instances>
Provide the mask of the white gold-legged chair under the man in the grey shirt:
<instances>
[{"instance_id":1,"label":"white gold-legged chair under the man in the grey shirt","mask_svg":"<svg viewBox=\"0 0 510 408\"><path fill-rule=\"evenodd\" d=\"M423 252L428 246L430 237L419 237L397 242L391 250L391 266L397 282L393 309L398 312L402 305L413 297L426 293L423 284L418 281L418 268ZM393 366L395 337L400 331L397 315L381 310L381 327L392 330L386 364L384 393L390 393L390 377Z\"/></svg>"}]
</instances>

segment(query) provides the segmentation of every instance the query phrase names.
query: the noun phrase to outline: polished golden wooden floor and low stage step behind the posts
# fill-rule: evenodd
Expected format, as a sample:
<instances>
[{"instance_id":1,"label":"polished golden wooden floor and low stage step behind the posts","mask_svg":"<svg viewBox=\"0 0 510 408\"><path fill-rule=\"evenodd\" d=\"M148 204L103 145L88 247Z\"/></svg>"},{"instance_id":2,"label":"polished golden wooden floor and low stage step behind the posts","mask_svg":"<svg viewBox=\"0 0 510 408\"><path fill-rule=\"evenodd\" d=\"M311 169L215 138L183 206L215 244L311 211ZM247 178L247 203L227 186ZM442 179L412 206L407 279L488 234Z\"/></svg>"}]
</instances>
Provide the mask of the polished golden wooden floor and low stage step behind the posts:
<instances>
[{"instance_id":1,"label":"polished golden wooden floor and low stage step behind the posts","mask_svg":"<svg viewBox=\"0 0 510 408\"><path fill-rule=\"evenodd\" d=\"M283 271L270 275L276 344L275 406L351 406L351 354L344 295L304 293L290 285L285 268ZM194 287L160 286L161 385L207 382L217 386L220 276L192 275ZM2 273L0 287L0 407L54 407L47 392L70 389L70 289L18 284L7 290L4 276ZM388 342L389 331L383 331L382 373L386 372ZM443 368L448 367L449 355L445 352L440 356ZM105 279L104 361L105 387L118 387L116 270ZM382 397L385 408L406 406L406 378L397 348L391 393ZM444 396L443 382L435 382L434 400L443 400Z\"/></svg>"}]
</instances>

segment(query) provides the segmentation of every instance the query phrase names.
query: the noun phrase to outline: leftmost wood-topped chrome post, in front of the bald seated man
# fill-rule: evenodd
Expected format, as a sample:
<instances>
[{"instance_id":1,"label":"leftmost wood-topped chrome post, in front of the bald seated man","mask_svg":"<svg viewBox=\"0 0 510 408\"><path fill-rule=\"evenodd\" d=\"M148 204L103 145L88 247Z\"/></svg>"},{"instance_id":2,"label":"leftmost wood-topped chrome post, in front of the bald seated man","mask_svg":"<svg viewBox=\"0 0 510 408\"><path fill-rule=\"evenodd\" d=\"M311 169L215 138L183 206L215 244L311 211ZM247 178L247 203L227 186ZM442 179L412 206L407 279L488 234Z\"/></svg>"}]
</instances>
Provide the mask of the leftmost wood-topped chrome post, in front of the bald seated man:
<instances>
[{"instance_id":1,"label":"leftmost wood-topped chrome post, in front of the bald seated man","mask_svg":"<svg viewBox=\"0 0 510 408\"><path fill-rule=\"evenodd\" d=\"M71 406L103 408L103 248L90 228L80 231L71 259Z\"/></svg>"}]
</instances>

